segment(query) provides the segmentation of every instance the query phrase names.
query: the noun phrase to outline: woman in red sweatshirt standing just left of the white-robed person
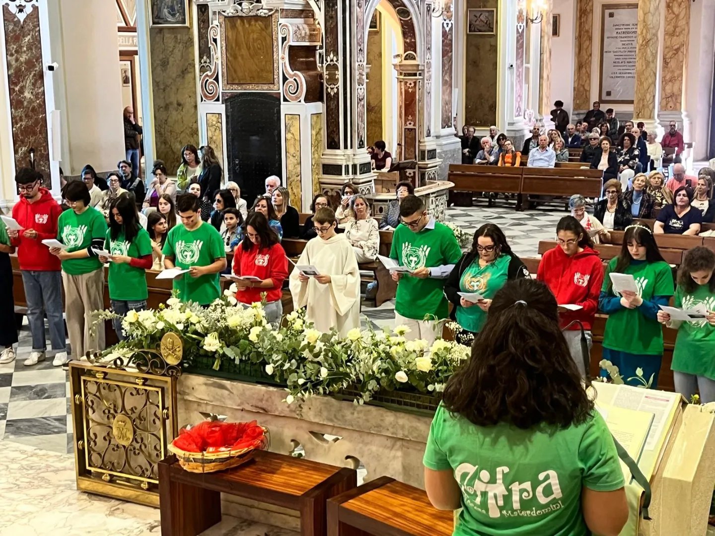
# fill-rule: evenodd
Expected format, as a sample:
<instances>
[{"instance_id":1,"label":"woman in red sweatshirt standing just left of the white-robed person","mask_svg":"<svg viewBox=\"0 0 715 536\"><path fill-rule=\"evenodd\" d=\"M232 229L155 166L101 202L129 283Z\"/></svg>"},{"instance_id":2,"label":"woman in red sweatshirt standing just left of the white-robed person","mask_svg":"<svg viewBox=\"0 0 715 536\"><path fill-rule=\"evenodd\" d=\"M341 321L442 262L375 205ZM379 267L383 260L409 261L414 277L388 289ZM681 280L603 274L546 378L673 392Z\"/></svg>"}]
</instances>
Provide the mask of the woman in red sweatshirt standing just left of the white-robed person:
<instances>
[{"instance_id":1,"label":"woman in red sweatshirt standing just left of the white-robed person","mask_svg":"<svg viewBox=\"0 0 715 536\"><path fill-rule=\"evenodd\" d=\"M249 306L261 302L261 294L265 292L263 308L266 319L272 324L280 324L283 314L282 287L288 277L288 259L277 234L260 212L248 214L243 241L234 250L233 273L240 277L257 278L238 279L236 299Z\"/></svg>"}]
</instances>

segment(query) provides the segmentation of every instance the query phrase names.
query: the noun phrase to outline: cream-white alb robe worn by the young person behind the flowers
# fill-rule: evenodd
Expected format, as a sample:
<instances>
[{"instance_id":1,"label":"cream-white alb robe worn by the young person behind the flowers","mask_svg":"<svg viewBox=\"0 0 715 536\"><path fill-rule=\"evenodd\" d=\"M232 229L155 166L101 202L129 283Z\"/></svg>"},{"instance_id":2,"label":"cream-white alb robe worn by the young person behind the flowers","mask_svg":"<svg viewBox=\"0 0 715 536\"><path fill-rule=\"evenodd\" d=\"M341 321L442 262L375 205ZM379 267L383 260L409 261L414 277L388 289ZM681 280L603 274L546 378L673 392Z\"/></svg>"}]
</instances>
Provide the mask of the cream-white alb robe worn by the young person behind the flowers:
<instances>
[{"instance_id":1,"label":"cream-white alb robe worn by the young person behind the flowers","mask_svg":"<svg viewBox=\"0 0 715 536\"><path fill-rule=\"evenodd\" d=\"M312 264L321 274L330 275L330 283L321 284L310 277L302 283L297 270L290 274L293 307L307 305L305 318L315 329L329 332L335 327L342 337L354 327L360 327L360 272L355 252L345 234L327 240L311 239L296 263Z\"/></svg>"}]
</instances>

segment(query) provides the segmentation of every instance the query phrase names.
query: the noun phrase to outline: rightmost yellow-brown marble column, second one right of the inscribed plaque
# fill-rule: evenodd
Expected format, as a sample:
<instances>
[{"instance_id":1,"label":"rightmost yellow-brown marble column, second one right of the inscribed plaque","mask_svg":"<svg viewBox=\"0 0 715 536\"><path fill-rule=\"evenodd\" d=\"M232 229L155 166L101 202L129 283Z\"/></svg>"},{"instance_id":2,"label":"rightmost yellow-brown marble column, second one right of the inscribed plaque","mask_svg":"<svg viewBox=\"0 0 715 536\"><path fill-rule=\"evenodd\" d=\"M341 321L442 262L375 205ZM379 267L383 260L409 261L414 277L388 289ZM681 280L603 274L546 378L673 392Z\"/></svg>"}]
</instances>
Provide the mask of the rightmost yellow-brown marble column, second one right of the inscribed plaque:
<instances>
[{"instance_id":1,"label":"rightmost yellow-brown marble column, second one right of the inscribed plaque","mask_svg":"<svg viewBox=\"0 0 715 536\"><path fill-rule=\"evenodd\" d=\"M661 69L661 121L687 121L684 94L688 66L691 0L666 0Z\"/></svg>"}]
</instances>

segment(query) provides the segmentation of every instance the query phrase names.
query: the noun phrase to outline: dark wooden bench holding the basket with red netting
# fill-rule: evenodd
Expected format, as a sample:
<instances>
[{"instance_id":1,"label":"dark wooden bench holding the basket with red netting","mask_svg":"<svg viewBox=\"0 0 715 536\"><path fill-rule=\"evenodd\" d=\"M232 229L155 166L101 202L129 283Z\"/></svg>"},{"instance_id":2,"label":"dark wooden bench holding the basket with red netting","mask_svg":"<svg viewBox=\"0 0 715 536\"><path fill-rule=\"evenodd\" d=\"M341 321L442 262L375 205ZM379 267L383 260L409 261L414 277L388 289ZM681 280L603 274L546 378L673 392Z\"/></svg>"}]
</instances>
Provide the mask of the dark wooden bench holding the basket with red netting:
<instances>
[{"instance_id":1,"label":"dark wooden bench holding the basket with red netting","mask_svg":"<svg viewBox=\"0 0 715 536\"><path fill-rule=\"evenodd\" d=\"M325 502L357 485L354 469L259 451L234 469L197 474L159 462L163 536L195 536L221 521L221 493L300 512L302 536L325 536Z\"/></svg>"}]
</instances>

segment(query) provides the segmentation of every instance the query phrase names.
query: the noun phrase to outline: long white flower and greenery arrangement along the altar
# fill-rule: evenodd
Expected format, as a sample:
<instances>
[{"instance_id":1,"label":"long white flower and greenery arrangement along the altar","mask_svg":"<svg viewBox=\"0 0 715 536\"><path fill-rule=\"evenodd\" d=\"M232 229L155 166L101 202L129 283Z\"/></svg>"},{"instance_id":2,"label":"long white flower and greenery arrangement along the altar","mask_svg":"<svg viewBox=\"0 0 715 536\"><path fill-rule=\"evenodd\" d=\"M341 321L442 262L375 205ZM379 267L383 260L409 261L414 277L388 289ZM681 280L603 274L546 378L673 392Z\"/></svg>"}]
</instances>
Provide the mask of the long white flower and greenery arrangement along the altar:
<instances>
[{"instance_id":1,"label":"long white flower and greenery arrangement along the altar","mask_svg":"<svg viewBox=\"0 0 715 536\"><path fill-rule=\"evenodd\" d=\"M99 321L114 318L111 311L96 313ZM143 349L157 349L167 333L182 341L182 367L199 357L211 357L219 370L225 359L260 364L265 373L287 386L286 402L313 394L349 392L355 402L369 401L380 391L437 394L452 372L470 355L470 348L437 339L408 341L408 327L352 329L347 337L335 330L320 332L302 311L285 317L276 329L265 319L260 303L244 308L232 292L203 309L170 298L159 309L129 312L122 321L126 339L102 353L112 362L132 359Z\"/></svg>"}]
</instances>

